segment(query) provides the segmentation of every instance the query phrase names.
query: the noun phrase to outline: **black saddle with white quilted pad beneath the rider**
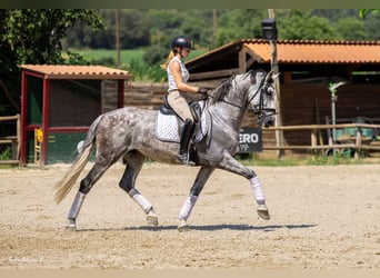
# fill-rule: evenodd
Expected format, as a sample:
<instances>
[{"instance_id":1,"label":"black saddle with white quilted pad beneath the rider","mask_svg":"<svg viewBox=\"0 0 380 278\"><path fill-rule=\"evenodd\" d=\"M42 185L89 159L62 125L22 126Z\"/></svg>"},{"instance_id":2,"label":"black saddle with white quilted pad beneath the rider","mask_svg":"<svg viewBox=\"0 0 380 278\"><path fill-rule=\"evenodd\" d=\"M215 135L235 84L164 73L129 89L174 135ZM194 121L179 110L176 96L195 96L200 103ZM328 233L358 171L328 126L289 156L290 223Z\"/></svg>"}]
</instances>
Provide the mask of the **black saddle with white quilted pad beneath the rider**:
<instances>
[{"instance_id":1,"label":"black saddle with white quilted pad beneath the rider","mask_svg":"<svg viewBox=\"0 0 380 278\"><path fill-rule=\"evenodd\" d=\"M194 118L194 131L192 135L193 142L200 142L208 132L204 115L204 100L189 101L190 111ZM168 103L167 96L163 97L156 122L156 136L161 141L179 142L183 120L172 110Z\"/></svg>"}]
</instances>

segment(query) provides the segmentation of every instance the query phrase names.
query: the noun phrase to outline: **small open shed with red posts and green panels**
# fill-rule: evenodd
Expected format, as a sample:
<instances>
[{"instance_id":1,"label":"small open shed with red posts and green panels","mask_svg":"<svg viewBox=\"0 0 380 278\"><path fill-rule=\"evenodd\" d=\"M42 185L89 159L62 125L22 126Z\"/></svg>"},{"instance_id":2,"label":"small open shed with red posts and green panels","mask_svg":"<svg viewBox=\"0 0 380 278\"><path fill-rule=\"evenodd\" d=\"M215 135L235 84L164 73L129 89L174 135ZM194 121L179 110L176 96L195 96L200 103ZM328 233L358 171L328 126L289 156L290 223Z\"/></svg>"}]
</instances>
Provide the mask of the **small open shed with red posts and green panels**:
<instances>
[{"instance_id":1,"label":"small open shed with red posts and green panels","mask_svg":"<svg viewBox=\"0 0 380 278\"><path fill-rule=\"evenodd\" d=\"M128 71L22 64L21 165L71 162L91 122L124 106Z\"/></svg>"}]
</instances>

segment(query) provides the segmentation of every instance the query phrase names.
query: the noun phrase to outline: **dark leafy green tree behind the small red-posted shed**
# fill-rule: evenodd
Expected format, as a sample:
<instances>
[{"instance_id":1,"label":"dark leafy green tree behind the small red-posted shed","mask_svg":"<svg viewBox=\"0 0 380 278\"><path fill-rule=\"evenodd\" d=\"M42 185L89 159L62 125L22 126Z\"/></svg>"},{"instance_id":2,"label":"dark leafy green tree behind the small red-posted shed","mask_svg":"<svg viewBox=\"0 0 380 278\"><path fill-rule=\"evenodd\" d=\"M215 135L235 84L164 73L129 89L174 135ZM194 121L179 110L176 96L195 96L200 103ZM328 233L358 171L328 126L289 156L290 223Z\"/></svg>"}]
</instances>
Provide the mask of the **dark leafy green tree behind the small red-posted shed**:
<instances>
[{"instance_id":1,"label":"dark leafy green tree behind the small red-posted shed","mask_svg":"<svg viewBox=\"0 0 380 278\"><path fill-rule=\"evenodd\" d=\"M61 40L78 21L93 30L103 28L94 10L0 10L0 115L20 110L19 64L64 63ZM81 60L76 54L69 58Z\"/></svg>"}]
</instances>

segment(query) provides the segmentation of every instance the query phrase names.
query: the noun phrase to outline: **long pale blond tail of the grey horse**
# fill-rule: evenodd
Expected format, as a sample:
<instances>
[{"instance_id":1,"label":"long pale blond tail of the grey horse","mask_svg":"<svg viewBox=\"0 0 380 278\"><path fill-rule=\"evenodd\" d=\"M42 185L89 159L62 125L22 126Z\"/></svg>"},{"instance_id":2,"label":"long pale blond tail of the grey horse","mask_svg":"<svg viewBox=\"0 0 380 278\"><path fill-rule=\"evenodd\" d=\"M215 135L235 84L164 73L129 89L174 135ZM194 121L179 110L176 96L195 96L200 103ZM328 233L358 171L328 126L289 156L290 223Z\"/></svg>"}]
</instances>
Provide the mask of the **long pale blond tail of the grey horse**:
<instances>
[{"instance_id":1,"label":"long pale blond tail of the grey horse","mask_svg":"<svg viewBox=\"0 0 380 278\"><path fill-rule=\"evenodd\" d=\"M63 176L63 178L58 181L54 186L54 201L60 203L61 200L70 192L72 186L74 185L76 180L78 179L80 172L83 170L84 166L89 161L91 151L93 149L93 143L96 141L96 131L99 121L101 120L102 116L98 117L91 125L86 140L83 142L82 150L77 156L76 160L73 161L70 169Z\"/></svg>"}]
</instances>

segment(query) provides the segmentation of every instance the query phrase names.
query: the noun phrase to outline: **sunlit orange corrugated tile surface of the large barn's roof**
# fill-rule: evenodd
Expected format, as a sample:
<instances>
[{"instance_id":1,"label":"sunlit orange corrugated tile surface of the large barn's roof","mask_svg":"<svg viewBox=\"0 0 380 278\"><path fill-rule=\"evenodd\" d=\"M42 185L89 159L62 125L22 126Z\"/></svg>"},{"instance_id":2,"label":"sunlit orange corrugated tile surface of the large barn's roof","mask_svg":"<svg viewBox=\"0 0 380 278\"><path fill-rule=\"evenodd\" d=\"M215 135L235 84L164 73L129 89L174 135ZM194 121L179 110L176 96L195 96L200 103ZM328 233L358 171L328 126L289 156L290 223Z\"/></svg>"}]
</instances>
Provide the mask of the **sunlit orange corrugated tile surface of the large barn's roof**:
<instances>
[{"instance_id":1,"label":"sunlit orange corrugated tile surface of the large barn's roof","mask_svg":"<svg viewBox=\"0 0 380 278\"><path fill-rule=\"evenodd\" d=\"M264 40L242 40L263 61L270 61L270 44ZM380 41L280 40L278 62L283 63L380 63Z\"/></svg>"}]
</instances>

